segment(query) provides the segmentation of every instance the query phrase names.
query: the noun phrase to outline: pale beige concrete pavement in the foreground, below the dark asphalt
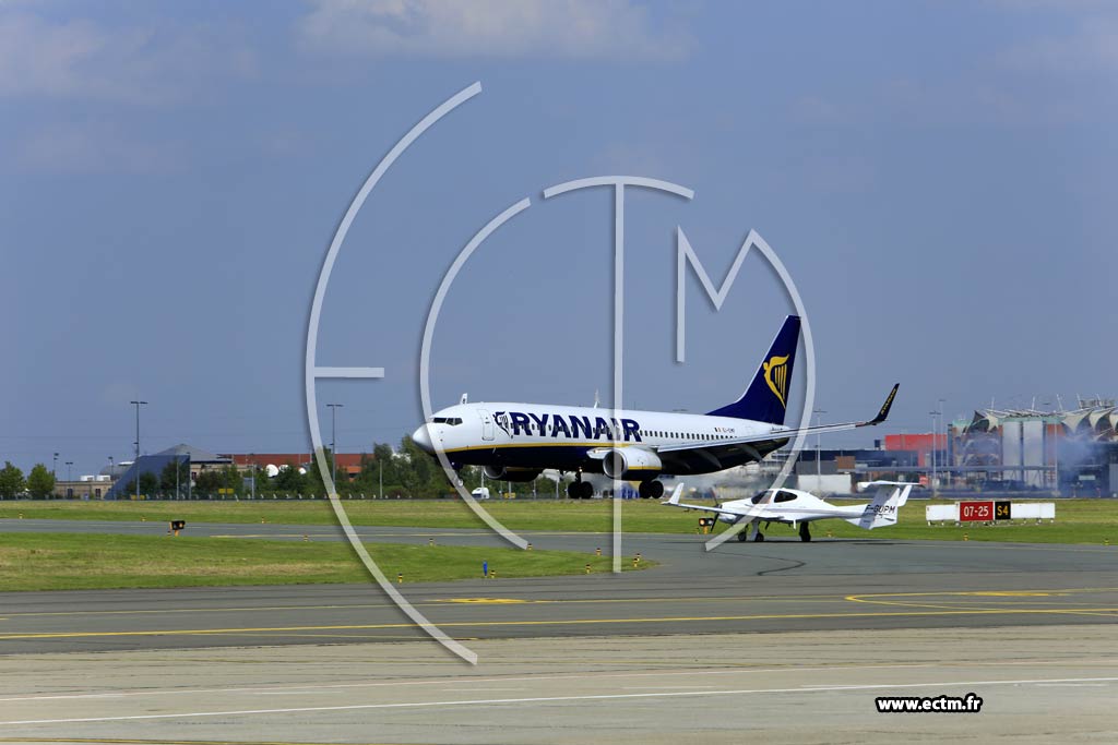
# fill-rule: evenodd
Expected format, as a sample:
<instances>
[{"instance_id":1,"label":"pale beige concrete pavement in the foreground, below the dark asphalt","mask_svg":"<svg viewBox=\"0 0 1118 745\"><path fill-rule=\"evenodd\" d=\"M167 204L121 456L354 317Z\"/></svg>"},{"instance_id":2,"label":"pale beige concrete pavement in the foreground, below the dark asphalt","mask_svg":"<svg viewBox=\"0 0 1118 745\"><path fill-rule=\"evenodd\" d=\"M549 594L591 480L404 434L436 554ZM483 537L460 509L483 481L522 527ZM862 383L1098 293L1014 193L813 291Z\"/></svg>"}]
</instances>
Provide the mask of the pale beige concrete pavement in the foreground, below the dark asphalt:
<instances>
[{"instance_id":1,"label":"pale beige concrete pavement in the foreground, below the dark asphalt","mask_svg":"<svg viewBox=\"0 0 1118 745\"><path fill-rule=\"evenodd\" d=\"M17 655L0 742L1118 742L1112 625ZM879 696L982 699L879 714Z\"/></svg>"}]
</instances>

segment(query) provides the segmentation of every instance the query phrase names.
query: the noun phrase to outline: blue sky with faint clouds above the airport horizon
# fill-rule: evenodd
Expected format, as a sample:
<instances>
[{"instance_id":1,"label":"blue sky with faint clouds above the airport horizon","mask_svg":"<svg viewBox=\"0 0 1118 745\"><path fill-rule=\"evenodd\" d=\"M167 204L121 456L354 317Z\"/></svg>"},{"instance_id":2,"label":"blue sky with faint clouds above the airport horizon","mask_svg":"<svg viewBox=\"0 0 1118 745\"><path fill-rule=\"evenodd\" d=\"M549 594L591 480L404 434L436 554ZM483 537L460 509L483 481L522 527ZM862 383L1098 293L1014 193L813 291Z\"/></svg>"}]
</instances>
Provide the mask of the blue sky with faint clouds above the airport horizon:
<instances>
[{"instance_id":1,"label":"blue sky with faint clouds above the airport horizon","mask_svg":"<svg viewBox=\"0 0 1118 745\"><path fill-rule=\"evenodd\" d=\"M307 449L307 314L338 221L475 80L339 257L319 363L387 371L319 384L345 407L342 450L418 423L435 289L524 197L447 296L436 405L608 401L609 195L540 199L603 174L695 190L631 194L626 405L736 398L789 309L757 256L718 313L691 277L674 364L676 226L716 283L750 229L779 254L824 419L901 382L887 430L834 446L926 431L939 399L954 417L1112 395L1116 49L1118 12L1093 2L4 2L0 459L127 458L136 397L145 451Z\"/></svg>"}]
</instances>

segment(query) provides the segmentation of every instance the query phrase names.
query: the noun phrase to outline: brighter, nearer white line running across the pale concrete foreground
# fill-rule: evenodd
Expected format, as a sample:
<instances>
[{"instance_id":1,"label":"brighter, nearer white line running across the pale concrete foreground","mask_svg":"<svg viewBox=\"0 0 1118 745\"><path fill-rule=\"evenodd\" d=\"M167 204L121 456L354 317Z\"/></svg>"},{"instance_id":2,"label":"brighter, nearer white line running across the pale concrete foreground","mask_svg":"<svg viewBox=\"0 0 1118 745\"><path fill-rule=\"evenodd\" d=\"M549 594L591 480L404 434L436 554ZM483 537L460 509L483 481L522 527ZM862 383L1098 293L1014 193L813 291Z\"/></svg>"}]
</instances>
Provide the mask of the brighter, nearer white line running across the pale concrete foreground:
<instances>
[{"instance_id":1,"label":"brighter, nearer white line running across the pale concrete foreground","mask_svg":"<svg viewBox=\"0 0 1118 745\"><path fill-rule=\"evenodd\" d=\"M68 719L18 719L0 725L78 724L85 722L139 722L150 719L191 719L202 717L253 716L260 714L306 714L311 711L359 711L372 709L416 709L439 706L482 706L500 704L555 704L562 701L604 701L636 698L679 698L694 696L743 696L749 694L808 694L841 690L900 690L902 688L973 688L976 686L1025 686L1044 684L1116 682L1118 678L1052 678L1020 680L946 680L940 682L873 684L865 686L828 686L818 688L741 688L737 690L674 690L656 694L600 694L586 696L533 696L525 698L481 698L451 701L411 701L397 704L354 704L349 706L301 706L286 709L241 709L226 711L187 711L182 714L135 714L111 717L75 717Z\"/></svg>"}]
</instances>

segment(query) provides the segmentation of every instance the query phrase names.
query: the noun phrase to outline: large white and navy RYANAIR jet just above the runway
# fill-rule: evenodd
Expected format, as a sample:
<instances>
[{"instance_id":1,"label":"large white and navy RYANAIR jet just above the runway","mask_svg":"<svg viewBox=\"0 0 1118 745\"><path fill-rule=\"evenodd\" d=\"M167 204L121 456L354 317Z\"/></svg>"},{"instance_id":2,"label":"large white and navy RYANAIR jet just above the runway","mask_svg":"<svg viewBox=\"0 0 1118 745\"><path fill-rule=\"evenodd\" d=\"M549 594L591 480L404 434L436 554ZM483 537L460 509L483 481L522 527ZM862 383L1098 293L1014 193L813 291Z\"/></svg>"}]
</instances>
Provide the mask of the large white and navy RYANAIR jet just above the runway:
<instances>
[{"instance_id":1,"label":"large white and navy RYANAIR jet just above the runway","mask_svg":"<svg viewBox=\"0 0 1118 745\"><path fill-rule=\"evenodd\" d=\"M538 403L467 403L443 409L411 439L429 453L443 451L454 468L483 466L495 480L531 481L544 468L572 471L572 499L589 498L584 472L639 481L644 498L660 498L660 476L710 474L765 456L800 432L839 432L880 424L893 385L869 421L790 429L784 426L788 384L799 343L799 317L788 316L746 392L705 414L561 407Z\"/></svg>"}]
</instances>

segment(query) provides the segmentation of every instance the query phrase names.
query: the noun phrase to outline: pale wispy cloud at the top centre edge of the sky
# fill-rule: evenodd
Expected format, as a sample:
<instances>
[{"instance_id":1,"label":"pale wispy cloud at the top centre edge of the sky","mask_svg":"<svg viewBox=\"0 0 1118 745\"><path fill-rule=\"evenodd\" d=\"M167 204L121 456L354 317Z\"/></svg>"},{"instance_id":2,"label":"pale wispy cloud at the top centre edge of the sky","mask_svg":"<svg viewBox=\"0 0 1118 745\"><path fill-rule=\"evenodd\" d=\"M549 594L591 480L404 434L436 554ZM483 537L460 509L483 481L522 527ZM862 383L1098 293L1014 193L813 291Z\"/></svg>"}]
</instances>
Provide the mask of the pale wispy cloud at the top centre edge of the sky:
<instances>
[{"instance_id":1,"label":"pale wispy cloud at the top centre edge of the sky","mask_svg":"<svg viewBox=\"0 0 1118 745\"><path fill-rule=\"evenodd\" d=\"M375 56L679 59L690 38L629 0L314 0L312 48Z\"/></svg>"}]
</instances>

